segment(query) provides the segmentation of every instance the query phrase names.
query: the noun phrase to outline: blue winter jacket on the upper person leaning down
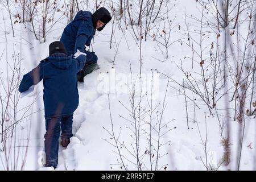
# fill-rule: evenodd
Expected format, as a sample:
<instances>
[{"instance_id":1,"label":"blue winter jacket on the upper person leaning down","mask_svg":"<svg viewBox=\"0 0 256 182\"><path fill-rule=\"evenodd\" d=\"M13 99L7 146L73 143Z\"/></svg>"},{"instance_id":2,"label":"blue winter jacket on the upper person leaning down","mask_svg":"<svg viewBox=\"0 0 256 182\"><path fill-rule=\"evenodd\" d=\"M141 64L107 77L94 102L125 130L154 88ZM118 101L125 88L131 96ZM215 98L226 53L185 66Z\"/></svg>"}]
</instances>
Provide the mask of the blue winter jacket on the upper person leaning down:
<instances>
[{"instance_id":1,"label":"blue winter jacket on the upper person leaning down","mask_svg":"<svg viewBox=\"0 0 256 182\"><path fill-rule=\"evenodd\" d=\"M94 34L92 13L79 11L72 22L64 28L60 41L63 42L68 54L74 54L77 49L84 52L85 45L90 46Z\"/></svg>"}]
</instances>

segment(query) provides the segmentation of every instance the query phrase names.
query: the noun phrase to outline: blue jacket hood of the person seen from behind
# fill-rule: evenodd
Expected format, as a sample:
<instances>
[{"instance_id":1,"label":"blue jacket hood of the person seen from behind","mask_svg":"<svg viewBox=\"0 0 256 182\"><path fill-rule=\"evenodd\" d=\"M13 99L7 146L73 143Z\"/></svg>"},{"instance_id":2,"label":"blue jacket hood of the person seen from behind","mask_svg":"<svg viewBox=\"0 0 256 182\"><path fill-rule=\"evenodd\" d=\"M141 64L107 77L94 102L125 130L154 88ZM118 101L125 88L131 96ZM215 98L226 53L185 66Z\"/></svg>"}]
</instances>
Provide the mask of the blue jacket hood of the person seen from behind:
<instances>
[{"instance_id":1,"label":"blue jacket hood of the person seen from behind","mask_svg":"<svg viewBox=\"0 0 256 182\"><path fill-rule=\"evenodd\" d=\"M54 53L47 59L51 64L60 69L67 69L72 64L72 56L66 56L63 53Z\"/></svg>"}]
</instances>

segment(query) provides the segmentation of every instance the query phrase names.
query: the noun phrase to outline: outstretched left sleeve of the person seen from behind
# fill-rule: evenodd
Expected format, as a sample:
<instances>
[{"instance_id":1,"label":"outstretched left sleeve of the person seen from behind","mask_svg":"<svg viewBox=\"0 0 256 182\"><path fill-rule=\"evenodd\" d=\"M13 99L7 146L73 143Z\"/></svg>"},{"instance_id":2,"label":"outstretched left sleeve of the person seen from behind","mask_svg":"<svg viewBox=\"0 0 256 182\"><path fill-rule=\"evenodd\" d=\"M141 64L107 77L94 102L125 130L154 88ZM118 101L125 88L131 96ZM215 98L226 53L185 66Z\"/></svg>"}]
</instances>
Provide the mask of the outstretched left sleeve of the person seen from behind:
<instances>
[{"instance_id":1,"label":"outstretched left sleeve of the person seen from behind","mask_svg":"<svg viewBox=\"0 0 256 182\"><path fill-rule=\"evenodd\" d=\"M22 81L19 85L19 92L25 92L32 85L38 84L43 79L43 68L42 63L40 63L36 68L32 69L23 76Z\"/></svg>"}]
</instances>

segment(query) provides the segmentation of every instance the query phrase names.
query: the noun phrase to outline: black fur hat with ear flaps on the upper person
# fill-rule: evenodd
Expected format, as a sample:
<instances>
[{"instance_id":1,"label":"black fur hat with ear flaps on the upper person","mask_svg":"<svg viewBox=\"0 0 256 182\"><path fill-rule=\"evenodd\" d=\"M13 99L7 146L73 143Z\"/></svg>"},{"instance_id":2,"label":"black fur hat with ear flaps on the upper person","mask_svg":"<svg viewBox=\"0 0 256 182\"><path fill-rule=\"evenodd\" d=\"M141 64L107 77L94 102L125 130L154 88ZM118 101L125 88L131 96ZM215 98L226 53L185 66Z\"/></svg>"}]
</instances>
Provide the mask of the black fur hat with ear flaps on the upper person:
<instances>
[{"instance_id":1,"label":"black fur hat with ear flaps on the upper person","mask_svg":"<svg viewBox=\"0 0 256 182\"><path fill-rule=\"evenodd\" d=\"M105 9L105 7L101 7L100 9L98 9L93 13L92 19L93 19L94 28L96 28L98 20L101 20L101 22L105 23L104 26L102 26L101 28L97 28L98 31L101 31L106 26L106 24L110 22L112 17L109 11Z\"/></svg>"}]
</instances>

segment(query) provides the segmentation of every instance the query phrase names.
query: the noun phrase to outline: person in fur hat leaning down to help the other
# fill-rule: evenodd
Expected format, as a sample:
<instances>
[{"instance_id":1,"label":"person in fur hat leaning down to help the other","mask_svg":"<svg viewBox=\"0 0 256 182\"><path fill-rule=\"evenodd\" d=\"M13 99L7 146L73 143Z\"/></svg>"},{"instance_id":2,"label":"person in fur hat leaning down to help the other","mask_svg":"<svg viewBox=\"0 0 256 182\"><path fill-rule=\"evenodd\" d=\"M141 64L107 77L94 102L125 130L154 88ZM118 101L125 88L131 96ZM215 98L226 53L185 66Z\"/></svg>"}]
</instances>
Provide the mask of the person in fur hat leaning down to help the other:
<instances>
[{"instance_id":1,"label":"person in fur hat leaning down to help the other","mask_svg":"<svg viewBox=\"0 0 256 182\"><path fill-rule=\"evenodd\" d=\"M84 81L85 75L91 73L97 67L98 57L94 52L85 50L96 30L101 31L112 19L108 10L101 7L95 13L79 11L71 23L64 28L60 41L64 43L68 54L73 54L77 49L86 53L85 67L77 74L77 80Z\"/></svg>"}]
</instances>

